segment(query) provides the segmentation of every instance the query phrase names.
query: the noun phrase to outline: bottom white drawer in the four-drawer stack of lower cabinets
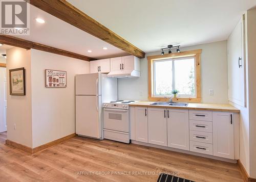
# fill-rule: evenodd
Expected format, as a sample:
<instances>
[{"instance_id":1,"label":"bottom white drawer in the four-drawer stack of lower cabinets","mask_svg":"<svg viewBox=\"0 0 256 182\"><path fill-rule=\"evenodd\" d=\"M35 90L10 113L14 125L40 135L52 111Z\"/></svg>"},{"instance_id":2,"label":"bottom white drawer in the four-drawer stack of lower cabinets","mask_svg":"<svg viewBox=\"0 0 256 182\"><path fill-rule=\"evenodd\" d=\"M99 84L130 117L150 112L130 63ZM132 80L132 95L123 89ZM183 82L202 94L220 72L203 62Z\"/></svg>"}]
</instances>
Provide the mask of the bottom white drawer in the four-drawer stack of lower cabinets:
<instances>
[{"instance_id":1,"label":"bottom white drawer in the four-drawer stack of lower cabinets","mask_svg":"<svg viewBox=\"0 0 256 182\"><path fill-rule=\"evenodd\" d=\"M190 151L212 155L212 144L190 141Z\"/></svg>"}]
</instances>

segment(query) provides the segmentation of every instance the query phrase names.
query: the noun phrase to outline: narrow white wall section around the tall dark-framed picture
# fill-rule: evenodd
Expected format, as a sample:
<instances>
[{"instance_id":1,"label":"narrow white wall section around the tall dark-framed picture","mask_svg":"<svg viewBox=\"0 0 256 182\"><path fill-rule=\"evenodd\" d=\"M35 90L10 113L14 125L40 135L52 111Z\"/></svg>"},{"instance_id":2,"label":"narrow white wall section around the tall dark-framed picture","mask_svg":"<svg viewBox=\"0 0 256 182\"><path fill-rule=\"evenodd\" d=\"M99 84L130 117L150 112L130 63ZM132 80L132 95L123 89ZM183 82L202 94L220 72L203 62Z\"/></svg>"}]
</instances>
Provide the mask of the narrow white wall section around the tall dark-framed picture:
<instances>
[{"instance_id":1,"label":"narrow white wall section around the tall dark-framed picture","mask_svg":"<svg viewBox=\"0 0 256 182\"><path fill-rule=\"evenodd\" d=\"M7 139L32 147L31 50L7 50ZM26 95L10 95L9 69L25 68ZM14 130L16 124L16 130Z\"/></svg>"}]
</instances>

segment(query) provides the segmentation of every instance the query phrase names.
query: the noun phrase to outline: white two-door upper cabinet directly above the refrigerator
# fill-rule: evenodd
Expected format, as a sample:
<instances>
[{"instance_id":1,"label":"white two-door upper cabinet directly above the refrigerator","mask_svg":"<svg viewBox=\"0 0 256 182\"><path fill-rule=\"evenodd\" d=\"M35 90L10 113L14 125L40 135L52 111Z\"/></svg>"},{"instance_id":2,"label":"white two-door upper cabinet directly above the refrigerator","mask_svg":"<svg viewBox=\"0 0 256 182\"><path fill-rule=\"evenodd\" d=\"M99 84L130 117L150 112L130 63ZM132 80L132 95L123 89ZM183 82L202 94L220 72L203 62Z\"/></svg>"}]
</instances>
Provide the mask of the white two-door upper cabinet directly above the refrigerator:
<instances>
[{"instance_id":1,"label":"white two-door upper cabinet directly above the refrigerator","mask_svg":"<svg viewBox=\"0 0 256 182\"><path fill-rule=\"evenodd\" d=\"M102 59L90 62L90 73L109 73L110 59Z\"/></svg>"}]
</instances>

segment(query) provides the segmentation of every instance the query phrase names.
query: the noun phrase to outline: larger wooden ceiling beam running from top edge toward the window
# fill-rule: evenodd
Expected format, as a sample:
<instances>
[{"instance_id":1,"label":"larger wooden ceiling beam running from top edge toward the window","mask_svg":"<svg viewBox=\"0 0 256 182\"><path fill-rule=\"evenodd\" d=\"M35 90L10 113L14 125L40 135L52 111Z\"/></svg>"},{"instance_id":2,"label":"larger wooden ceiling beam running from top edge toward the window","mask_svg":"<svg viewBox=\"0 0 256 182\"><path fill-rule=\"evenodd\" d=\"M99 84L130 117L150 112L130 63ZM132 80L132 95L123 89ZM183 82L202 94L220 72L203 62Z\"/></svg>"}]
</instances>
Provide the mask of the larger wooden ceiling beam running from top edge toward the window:
<instances>
[{"instance_id":1,"label":"larger wooden ceiling beam running from top edge toward the window","mask_svg":"<svg viewBox=\"0 0 256 182\"><path fill-rule=\"evenodd\" d=\"M65 0L24 0L27 3L110 43L126 53L144 58L145 53Z\"/></svg>"}]
</instances>

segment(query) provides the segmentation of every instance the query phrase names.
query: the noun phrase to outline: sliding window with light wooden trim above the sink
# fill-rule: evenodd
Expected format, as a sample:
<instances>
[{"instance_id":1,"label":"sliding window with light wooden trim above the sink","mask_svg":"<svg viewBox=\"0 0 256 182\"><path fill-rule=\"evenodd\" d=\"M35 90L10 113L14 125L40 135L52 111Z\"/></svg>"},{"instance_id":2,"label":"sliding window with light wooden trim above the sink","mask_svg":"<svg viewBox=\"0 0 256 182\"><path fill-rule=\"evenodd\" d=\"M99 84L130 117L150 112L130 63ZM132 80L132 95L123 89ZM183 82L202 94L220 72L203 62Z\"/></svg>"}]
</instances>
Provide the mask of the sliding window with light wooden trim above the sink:
<instances>
[{"instance_id":1,"label":"sliding window with light wooden trim above the sink","mask_svg":"<svg viewBox=\"0 0 256 182\"><path fill-rule=\"evenodd\" d=\"M167 55L150 56L148 59L148 99L166 101L201 101L200 76L201 49Z\"/></svg>"}]
</instances>

